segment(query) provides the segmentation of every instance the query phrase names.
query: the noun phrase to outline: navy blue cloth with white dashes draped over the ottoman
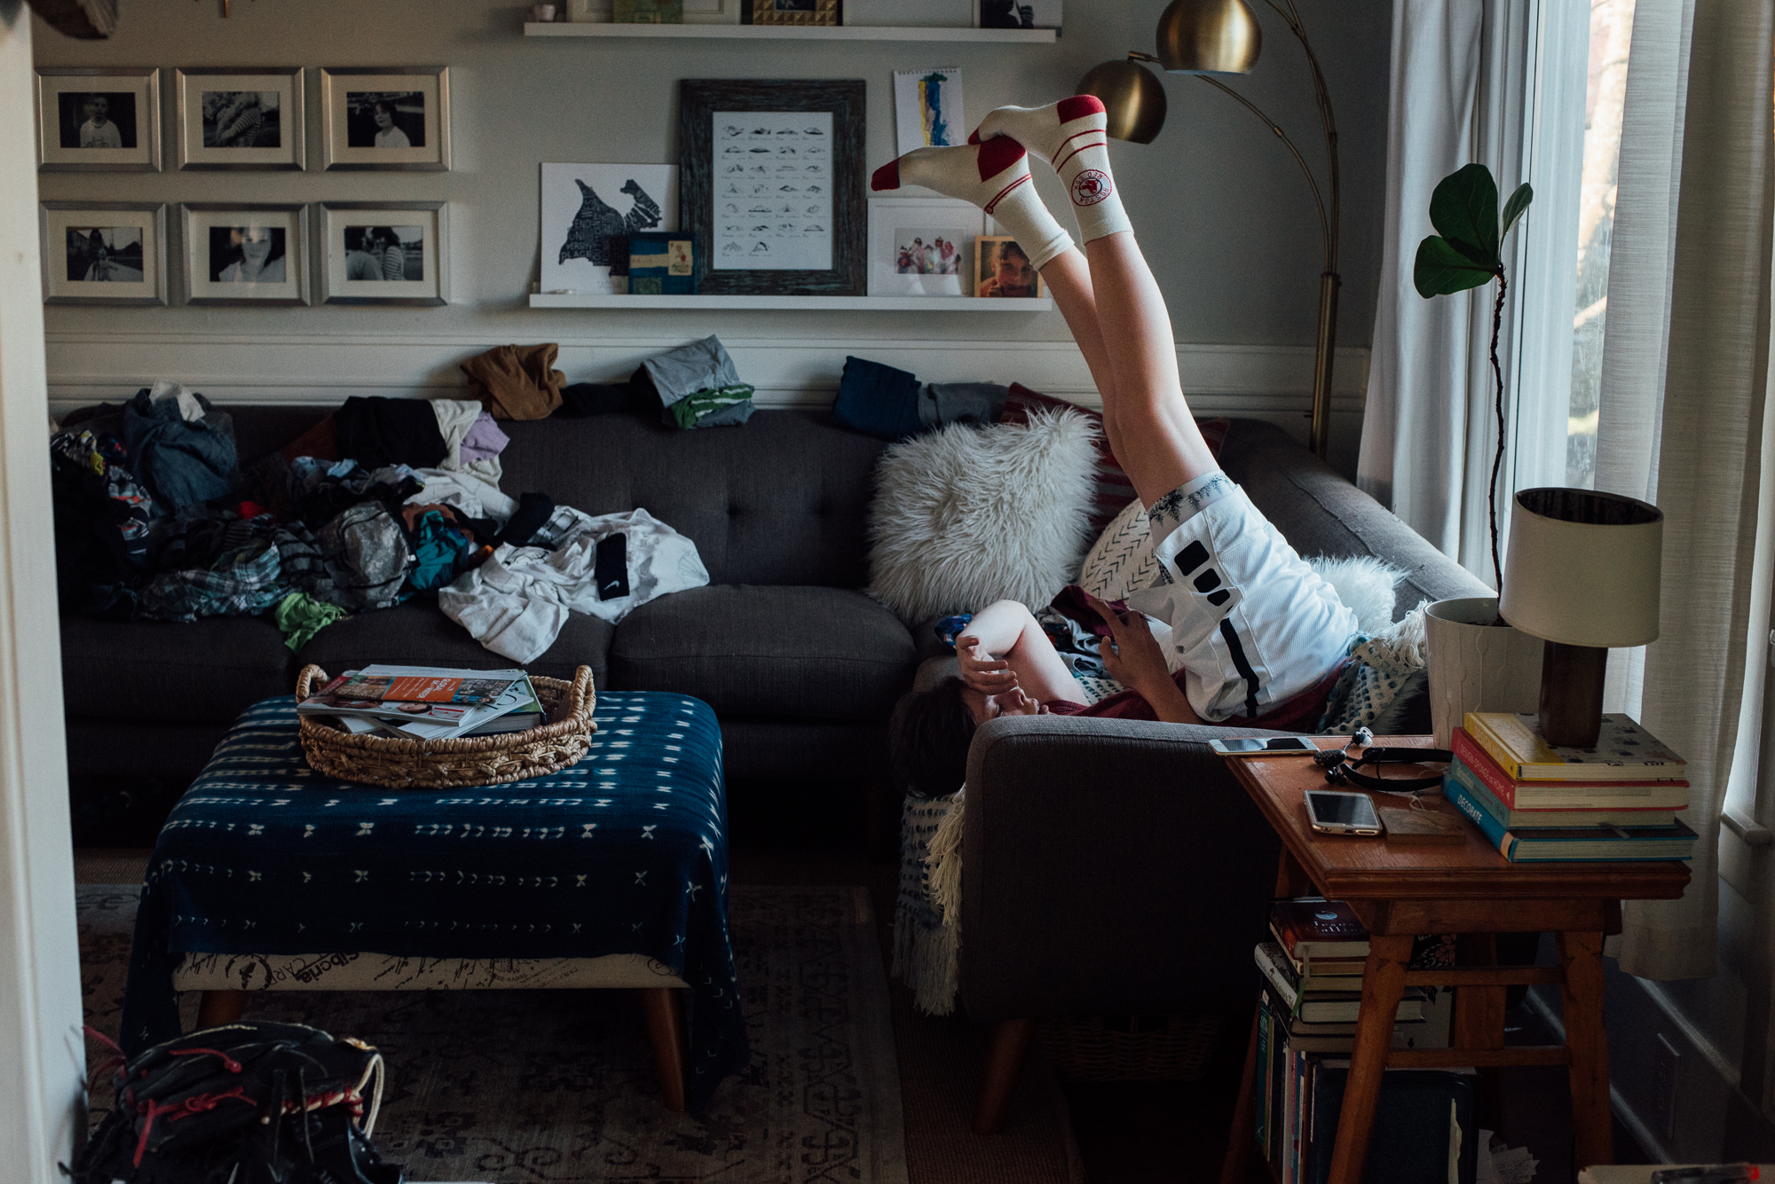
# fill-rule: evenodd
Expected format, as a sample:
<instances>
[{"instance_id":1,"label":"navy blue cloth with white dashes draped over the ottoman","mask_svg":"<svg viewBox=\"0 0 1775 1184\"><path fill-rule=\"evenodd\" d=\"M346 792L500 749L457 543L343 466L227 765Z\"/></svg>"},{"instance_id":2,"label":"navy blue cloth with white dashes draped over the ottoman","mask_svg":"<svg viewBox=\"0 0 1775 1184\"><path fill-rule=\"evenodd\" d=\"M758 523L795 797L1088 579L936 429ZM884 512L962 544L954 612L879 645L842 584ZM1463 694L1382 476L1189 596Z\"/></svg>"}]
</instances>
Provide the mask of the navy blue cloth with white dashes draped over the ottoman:
<instances>
[{"instance_id":1,"label":"navy blue cloth with white dashes draped over the ottoman","mask_svg":"<svg viewBox=\"0 0 1775 1184\"><path fill-rule=\"evenodd\" d=\"M751 1053L728 938L721 728L706 704L602 693L591 752L485 789L341 782L302 755L295 698L250 707L154 844L121 1044L179 1032L179 955L643 954L690 984L699 1111Z\"/></svg>"}]
</instances>

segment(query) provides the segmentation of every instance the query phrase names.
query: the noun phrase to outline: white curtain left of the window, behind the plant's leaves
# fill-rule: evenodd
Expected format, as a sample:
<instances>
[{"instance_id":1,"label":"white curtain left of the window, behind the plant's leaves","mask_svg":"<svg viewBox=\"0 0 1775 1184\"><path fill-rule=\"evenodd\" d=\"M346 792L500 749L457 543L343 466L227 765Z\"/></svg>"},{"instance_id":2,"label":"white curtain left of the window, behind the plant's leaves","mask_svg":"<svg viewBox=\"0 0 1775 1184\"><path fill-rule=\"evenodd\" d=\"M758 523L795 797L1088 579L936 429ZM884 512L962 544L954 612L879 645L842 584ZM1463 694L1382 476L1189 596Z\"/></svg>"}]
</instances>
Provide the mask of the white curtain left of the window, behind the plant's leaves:
<instances>
[{"instance_id":1,"label":"white curtain left of the window, behind the plant's leaves","mask_svg":"<svg viewBox=\"0 0 1775 1184\"><path fill-rule=\"evenodd\" d=\"M1470 298L1411 285L1431 190L1477 160L1484 5L1393 0L1381 294L1356 484L1445 555L1461 553Z\"/></svg>"}]
</instances>

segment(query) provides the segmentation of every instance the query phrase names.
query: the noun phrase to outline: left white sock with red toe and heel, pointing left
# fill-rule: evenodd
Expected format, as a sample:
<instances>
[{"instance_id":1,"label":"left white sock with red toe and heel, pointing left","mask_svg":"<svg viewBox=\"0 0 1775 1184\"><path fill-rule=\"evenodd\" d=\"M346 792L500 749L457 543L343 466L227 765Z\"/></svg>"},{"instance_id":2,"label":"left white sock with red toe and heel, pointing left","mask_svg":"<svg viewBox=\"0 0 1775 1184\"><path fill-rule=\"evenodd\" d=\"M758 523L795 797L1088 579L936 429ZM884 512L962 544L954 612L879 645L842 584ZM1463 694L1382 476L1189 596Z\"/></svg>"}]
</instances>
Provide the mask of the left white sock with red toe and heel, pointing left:
<instances>
[{"instance_id":1,"label":"left white sock with red toe and heel, pointing left","mask_svg":"<svg viewBox=\"0 0 1775 1184\"><path fill-rule=\"evenodd\" d=\"M1072 236L1054 222L1047 206L1035 195L1030 156L1015 140L999 136L990 144L912 149L870 177L870 188L875 191L898 190L902 184L923 184L987 211L1017 239L1017 246L1030 255L1030 264L1037 271L1072 246Z\"/></svg>"}]
</instances>

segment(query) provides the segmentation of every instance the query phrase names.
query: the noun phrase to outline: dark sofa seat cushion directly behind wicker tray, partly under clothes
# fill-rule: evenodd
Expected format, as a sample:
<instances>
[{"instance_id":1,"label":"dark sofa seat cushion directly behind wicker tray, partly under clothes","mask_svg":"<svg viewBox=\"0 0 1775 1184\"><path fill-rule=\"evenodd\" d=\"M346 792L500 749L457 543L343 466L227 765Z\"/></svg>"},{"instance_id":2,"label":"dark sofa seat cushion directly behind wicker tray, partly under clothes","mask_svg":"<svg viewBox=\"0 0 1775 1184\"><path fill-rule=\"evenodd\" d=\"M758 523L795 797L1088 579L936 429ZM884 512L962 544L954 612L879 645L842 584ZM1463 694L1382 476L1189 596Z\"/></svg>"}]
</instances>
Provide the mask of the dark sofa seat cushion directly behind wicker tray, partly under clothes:
<instances>
[{"instance_id":1,"label":"dark sofa seat cushion directly behind wicker tray, partly under clothes","mask_svg":"<svg viewBox=\"0 0 1775 1184\"><path fill-rule=\"evenodd\" d=\"M591 666L593 688L604 689L611 631L607 620L568 613L561 636L525 670L545 679L572 679L573 672L586 665ZM399 608L357 613L330 624L302 647L296 670L311 661L327 674L343 674L378 661L396 666L465 670L506 670L518 665L483 647L467 629L438 611L433 601L408 601Z\"/></svg>"}]
</instances>

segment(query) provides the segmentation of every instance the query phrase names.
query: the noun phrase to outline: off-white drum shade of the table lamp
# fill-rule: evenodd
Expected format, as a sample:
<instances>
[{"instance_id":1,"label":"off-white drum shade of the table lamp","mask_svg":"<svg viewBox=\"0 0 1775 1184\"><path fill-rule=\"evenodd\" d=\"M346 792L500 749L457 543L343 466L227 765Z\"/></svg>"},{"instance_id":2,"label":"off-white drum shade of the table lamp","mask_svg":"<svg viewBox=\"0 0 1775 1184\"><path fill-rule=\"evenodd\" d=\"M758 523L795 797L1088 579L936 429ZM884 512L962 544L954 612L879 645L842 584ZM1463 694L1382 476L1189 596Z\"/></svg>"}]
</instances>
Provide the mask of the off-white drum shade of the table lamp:
<instances>
[{"instance_id":1,"label":"off-white drum shade of the table lamp","mask_svg":"<svg viewBox=\"0 0 1775 1184\"><path fill-rule=\"evenodd\" d=\"M1498 611L1564 645L1658 640L1663 510L1589 489L1523 489Z\"/></svg>"}]
</instances>

